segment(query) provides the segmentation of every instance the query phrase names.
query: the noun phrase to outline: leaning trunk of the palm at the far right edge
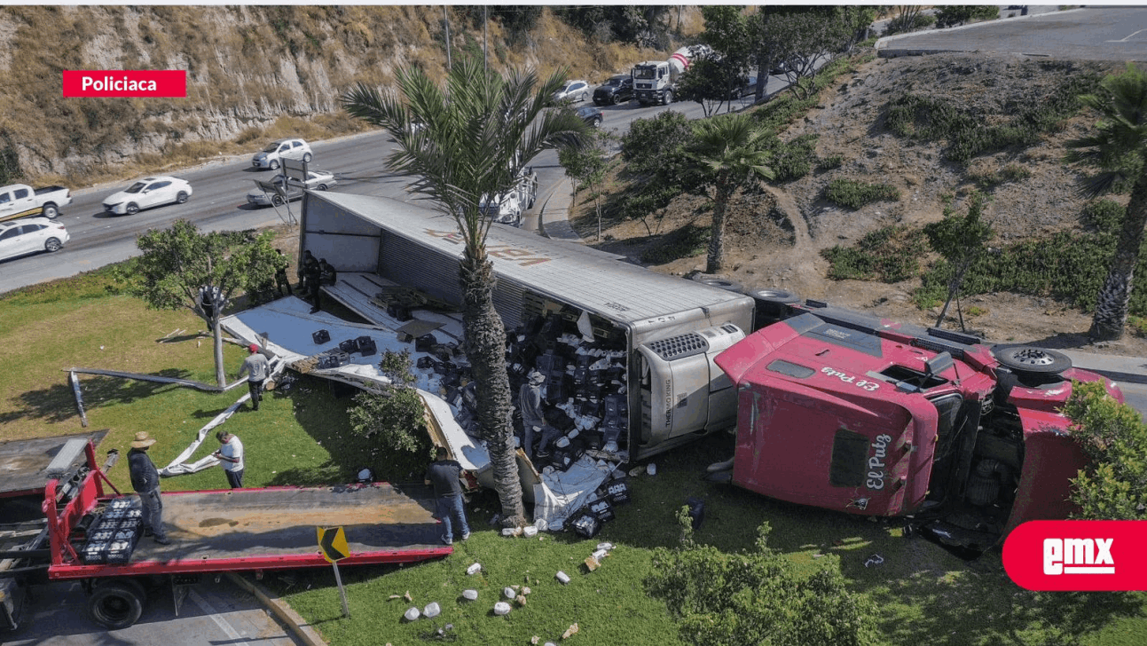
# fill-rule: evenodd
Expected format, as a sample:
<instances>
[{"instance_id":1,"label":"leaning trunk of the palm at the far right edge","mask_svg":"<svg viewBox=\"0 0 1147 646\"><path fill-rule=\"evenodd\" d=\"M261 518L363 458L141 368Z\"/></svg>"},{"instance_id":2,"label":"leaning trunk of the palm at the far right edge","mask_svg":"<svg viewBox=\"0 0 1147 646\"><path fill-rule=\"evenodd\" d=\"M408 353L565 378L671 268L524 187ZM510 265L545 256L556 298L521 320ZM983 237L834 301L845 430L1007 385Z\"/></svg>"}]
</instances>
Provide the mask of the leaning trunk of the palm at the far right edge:
<instances>
[{"instance_id":1,"label":"leaning trunk of the palm at the far right edge","mask_svg":"<svg viewBox=\"0 0 1147 646\"><path fill-rule=\"evenodd\" d=\"M1131 192L1131 201L1123 217L1123 229L1119 232L1111 266L1107 271L1107 280L1099 290L1095 316L1087 333L1092 341L1115 341L1123 336L1145 225L1147 225L1147 176L1140 176Z\"/></svg>"}]
</instances>

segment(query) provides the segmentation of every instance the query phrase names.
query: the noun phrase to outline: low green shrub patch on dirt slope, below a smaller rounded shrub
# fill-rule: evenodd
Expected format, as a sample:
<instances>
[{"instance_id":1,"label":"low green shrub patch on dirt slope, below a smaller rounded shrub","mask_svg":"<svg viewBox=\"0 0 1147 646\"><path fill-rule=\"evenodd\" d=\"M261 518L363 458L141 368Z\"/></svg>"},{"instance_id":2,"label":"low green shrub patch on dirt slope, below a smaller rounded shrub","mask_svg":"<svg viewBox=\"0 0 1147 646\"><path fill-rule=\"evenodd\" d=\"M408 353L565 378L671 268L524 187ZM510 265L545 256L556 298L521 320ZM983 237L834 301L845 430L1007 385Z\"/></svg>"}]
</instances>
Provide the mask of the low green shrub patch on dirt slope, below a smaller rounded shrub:
<instances>
[{"instance_id":1,"label":"low green shrub patch on dirt slope, below a smaller rounded shrub","mask_svg":"<svg viewBox=\"0 0 1147 646\"><path fill-rule=\"evenodd\" d=\"M820 255L829 262L828 278L833 280L899 282L920 272L920 258L926 251L922 231L895 225L865 235L853 247L837 244Z\"/></svg>"}]
</instances>

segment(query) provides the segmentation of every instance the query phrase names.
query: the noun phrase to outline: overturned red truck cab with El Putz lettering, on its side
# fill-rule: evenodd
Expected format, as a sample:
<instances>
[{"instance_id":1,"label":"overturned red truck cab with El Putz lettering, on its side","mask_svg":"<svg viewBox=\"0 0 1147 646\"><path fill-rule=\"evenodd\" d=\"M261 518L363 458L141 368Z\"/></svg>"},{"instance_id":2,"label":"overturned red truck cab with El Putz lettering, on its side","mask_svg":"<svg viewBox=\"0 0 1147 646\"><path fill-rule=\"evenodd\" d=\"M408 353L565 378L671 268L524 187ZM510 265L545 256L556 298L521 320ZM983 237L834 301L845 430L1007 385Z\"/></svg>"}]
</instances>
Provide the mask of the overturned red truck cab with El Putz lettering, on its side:
<instances>
[{"instance_id":1,"label":"overturned red truck cab with El Putz lettering, on its side","mask_svg":"<svg viewBox=\"0 0 1147 646\"><path fill-rule=\"evenodd\" d=\"M1059 411L1103 376L1053 350L790 302L716 363L738 388L734 484L771 498L900 516L982 552L1071 512L1086 465ZM729 462L711 470L728 476Z\"/></svg>"}]
</instances>

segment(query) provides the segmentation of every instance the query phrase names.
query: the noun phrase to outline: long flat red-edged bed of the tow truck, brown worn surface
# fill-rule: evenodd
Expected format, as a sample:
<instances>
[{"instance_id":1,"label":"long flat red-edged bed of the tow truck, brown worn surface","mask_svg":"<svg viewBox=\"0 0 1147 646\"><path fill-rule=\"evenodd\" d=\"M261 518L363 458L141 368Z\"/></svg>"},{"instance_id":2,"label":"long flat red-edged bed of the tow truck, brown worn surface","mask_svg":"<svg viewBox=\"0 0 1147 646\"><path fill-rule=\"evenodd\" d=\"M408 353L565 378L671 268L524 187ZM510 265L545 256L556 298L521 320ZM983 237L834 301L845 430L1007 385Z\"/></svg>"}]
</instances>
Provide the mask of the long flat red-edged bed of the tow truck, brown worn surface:
<instances>
[{"instance_id":1,"label":"long flat red-edged bed of the tow truck, brown worn surface","mask_svg":"<svg viewBox=\"0 0 1147 646\"><path fill-rule=\"evenodd\" d=\"M317 527L343 527L350 555L343 565L409 562L446 555L423 485L186 491L163 495L171 538L139 540L123 565L54 565L52 578L284 569L326 565Z\"/></svg>"}]
</instances>

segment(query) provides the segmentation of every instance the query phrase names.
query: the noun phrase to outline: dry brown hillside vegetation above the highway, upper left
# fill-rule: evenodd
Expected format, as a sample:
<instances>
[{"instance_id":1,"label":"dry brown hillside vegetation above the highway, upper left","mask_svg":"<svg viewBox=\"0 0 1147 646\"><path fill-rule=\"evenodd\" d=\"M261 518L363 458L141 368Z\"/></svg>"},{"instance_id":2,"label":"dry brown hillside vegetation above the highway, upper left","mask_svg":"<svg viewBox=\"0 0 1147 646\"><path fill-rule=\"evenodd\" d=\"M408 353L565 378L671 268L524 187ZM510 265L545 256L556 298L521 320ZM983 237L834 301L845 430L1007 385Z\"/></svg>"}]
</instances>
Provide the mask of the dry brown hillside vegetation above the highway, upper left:
<instances>
[{"instance_id":1,"label":"dry brown hillside vegetation above the highway, upper left","mask_svg":"<svg viewBox=\"0 0 1147 646\"><path fill-rule=\"evenodd\" d=\"M451 11L453 55L481 55L481 26ZM79 187L276 135L353 132L361 126L337 108L353 84L389 84L405 65L444 77L442 18L426 6L3 7L0 154L18 157L18 179ZM700 29L695 9L682 18L686 32ZM654 55L587 42L549 10L507 40L491 21L497 69L565 65L591 80ZM184 69L188 96L62 99L61 71L84 69Z\"/></svg>"}]
</instances>

